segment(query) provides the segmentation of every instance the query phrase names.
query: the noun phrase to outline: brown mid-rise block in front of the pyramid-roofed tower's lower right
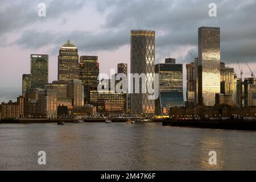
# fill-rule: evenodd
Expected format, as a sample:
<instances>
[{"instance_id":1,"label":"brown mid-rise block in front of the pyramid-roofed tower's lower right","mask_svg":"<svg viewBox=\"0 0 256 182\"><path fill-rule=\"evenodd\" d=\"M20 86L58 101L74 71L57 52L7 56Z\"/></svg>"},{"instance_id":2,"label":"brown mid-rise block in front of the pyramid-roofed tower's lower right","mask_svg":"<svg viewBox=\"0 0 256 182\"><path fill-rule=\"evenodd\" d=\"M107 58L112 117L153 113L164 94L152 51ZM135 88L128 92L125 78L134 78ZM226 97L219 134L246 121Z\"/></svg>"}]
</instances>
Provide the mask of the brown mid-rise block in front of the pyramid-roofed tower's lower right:
<instances>
[{"instance_id":1,"label":"brown mid-rise block in front of the pyramid-roofed tower's lower right","mask_svg":"<svg viewBox=\"0 0 256 182\"><path fill-rule=\"evenodd\" d=\"M72 98L74 109L84 106L84 87L81 80L69 80L67 86L67 97Z\"/></svg>"}]
</instances>

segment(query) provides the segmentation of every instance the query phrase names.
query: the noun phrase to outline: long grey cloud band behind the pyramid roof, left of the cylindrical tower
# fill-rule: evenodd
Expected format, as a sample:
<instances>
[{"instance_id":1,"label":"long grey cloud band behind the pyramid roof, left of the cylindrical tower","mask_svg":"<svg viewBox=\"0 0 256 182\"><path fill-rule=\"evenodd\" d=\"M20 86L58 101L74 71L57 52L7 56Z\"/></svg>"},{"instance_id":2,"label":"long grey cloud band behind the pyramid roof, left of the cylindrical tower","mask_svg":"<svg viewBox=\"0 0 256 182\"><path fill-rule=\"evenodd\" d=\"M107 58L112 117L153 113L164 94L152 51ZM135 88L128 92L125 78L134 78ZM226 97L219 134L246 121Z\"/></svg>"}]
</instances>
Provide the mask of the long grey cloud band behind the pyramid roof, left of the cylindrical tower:
<instances>
[{"instance_id":1,"label":"long grey cloud band behind the pyramid roof, left of the cylindrical tower","mask_svg":"<svg viewBox=\"0 0 256 182\"><path fill-rule=\"evenodd\" d=\"M13 44L28 49L39 49L55 45L57 51L67 40L71 40L81 51L113 50L129 42L129 31L104 31L93 33L89 31L53 32L53 31L24 31L22 36ZM52 52L53 53L53 52ZM55 52L56 53L56 52Z\"/></svg>"}]
</instances>

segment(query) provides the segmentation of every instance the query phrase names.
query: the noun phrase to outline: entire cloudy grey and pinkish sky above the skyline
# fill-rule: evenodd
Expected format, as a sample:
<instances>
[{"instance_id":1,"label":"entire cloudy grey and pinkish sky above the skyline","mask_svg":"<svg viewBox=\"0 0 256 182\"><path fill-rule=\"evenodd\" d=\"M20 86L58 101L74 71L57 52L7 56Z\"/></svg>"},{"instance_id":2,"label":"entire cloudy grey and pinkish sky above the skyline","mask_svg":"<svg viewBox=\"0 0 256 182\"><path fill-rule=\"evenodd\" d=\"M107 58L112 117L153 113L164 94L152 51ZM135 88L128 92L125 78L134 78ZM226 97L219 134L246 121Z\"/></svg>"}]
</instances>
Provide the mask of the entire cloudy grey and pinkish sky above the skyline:
<instances>
[{"instance_id":1,"label":"entire cloudy grey and pinkish sky above the skyline","mask_svg":"<svg viewBox=\"0 0 256 182\"><path fill-rule=\"evenodd\" d=\"M38 16L39 2L46 3L46 17ZM22 93L31 53L49 55L49 81L56 80L57 55L68 39L80 56L99 56L101 73L129 64L133 29L156 31L156 63L175 57L185 64L192 61L187 51L197 55L197 28L221 27L221 60L237 73L237 60L247 60L256 73L255 11L256 0L1 0L0 102ZM242 68L250 77L245 64Z\"/></svg>"}]
</instances>

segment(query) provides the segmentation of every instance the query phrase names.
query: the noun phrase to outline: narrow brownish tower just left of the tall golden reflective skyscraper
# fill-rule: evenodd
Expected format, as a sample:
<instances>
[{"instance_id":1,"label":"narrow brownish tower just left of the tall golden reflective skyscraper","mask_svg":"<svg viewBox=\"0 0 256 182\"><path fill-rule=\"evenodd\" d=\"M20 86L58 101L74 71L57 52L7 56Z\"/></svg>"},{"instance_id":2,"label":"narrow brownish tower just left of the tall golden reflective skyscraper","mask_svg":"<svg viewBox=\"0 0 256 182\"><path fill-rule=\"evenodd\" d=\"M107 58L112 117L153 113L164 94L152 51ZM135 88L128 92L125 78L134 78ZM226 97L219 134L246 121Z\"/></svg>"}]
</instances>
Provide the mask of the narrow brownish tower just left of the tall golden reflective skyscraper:
<instances>
[{"instance_id":1,"label":"narrow brownish tower just left of the tall golden reflective skyscraper","mask_svg":"<svg viewBox=\"0 0 256 182\"><path fill-rule=\"evenodd\" d=\"M187 106L195 105L195 63L186 64L187 68Z\"/></svg>"}]
</instances>

